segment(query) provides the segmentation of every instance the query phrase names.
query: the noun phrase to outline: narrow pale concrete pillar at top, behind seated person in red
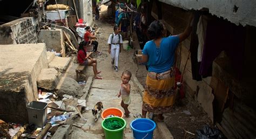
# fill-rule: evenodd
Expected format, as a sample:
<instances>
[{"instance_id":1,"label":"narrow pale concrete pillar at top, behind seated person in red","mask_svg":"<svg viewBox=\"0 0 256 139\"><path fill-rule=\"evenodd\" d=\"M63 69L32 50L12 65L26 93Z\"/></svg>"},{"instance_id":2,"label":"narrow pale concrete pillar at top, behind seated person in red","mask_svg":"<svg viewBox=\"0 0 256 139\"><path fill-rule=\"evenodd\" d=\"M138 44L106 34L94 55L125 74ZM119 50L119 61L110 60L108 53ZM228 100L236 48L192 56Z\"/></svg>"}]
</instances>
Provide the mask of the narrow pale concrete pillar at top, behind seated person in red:
<instances>
[{"instance_id":1,"label":"narrow pale concrete pillar at top, behind seated person in red","mask_svg":"<svg viewBox=\"0 0 256 139\"><path fill-rule=\"evenodd\" d=\"M83 0L79 2L79 17L83 18L87 26L91 26L93 22L92 1Z\"/></svg>"}]
</instances>

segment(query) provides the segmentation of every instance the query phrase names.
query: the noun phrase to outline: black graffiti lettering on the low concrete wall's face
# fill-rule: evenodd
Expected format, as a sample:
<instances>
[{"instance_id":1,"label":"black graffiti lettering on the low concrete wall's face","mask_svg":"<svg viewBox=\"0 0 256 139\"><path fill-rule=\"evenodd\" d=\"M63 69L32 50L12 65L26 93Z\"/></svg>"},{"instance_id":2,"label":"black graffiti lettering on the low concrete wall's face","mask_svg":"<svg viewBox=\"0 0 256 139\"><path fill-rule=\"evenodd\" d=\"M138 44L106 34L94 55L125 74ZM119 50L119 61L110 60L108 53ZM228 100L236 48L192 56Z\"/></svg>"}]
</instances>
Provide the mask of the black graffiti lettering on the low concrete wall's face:
<instances>
[{"instance_id":1,"label":"black graffiti lettering on the low concrete wall's face","mask_svg":"<svg viewBox=\"0 0 256 139\"><path fill-rule=\"evenodd\" d=\"M22 20L14 31L14 39L16 44L37 43L36 25L32 23L32 19Z\"/></svg>"}]
</instances>

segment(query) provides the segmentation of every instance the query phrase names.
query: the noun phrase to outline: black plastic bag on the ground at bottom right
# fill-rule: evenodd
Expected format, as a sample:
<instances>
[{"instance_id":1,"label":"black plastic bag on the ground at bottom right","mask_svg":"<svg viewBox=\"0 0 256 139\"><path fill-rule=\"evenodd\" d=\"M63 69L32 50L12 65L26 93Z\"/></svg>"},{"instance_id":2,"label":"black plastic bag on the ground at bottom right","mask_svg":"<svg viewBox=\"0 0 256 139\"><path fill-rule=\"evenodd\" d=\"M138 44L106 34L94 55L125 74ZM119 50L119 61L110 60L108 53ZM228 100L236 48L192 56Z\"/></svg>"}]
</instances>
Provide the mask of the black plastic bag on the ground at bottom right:
<instances>
[{"instance_id":1,"label":"black plastic bag on the ground at bottom right","mask_svg":"<svg viewBox=\"0 0 256 139\"><path fill-rule=\"evenodd\" d=\"M198 129L196 131L197 139L212 139L212 138L225 138L225 136L220 132L219 129L211 128L208 125L205 125L203 129Z\"/></svg>"}]
</instances>

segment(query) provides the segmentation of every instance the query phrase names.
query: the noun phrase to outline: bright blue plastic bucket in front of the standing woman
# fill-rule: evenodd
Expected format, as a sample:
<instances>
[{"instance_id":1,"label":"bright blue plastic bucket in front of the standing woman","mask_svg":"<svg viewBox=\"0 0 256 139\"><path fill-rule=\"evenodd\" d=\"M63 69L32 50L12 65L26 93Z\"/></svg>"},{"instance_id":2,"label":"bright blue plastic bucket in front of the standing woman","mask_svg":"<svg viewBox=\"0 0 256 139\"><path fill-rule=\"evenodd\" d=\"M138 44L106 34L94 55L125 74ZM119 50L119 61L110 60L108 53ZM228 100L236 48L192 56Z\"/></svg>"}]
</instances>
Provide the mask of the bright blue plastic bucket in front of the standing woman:
<instances>
[{"instance_id":1,"label":"bright blue plastic bucket in front of the standing woman","mask_svg":"<svg viewBox=\"0 0 256 139\"><path fill-rule=\"evenodd\" d=\"M152 139L156 123L150 119L135 119L130 123L135 139Z\"/></svg>"}]
</instances>

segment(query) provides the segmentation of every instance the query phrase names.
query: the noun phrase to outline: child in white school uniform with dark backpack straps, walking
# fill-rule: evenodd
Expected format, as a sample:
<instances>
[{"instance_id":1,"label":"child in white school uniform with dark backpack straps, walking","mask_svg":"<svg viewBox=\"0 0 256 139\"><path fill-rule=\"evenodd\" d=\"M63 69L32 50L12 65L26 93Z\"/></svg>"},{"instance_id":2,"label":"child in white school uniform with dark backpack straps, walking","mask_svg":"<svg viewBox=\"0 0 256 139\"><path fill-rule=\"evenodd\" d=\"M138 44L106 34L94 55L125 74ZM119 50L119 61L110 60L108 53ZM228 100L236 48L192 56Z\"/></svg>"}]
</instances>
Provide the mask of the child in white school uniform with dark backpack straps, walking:
<instances>
[{"instance_id":1,"label":"child in white school uniform with dark backpack straps, walking","mask_svg":"<svg viewBox=\"0 0 256 139\"><path fill-rule=\"evenodd\" d=\"M111 54L111 64L114 65L114 71L118 71L119 53L123 46L122 35L119 34L119 27L114 26L114 33L110 34L109 40L109 53Z\"/></svg>"}]
</instances>

